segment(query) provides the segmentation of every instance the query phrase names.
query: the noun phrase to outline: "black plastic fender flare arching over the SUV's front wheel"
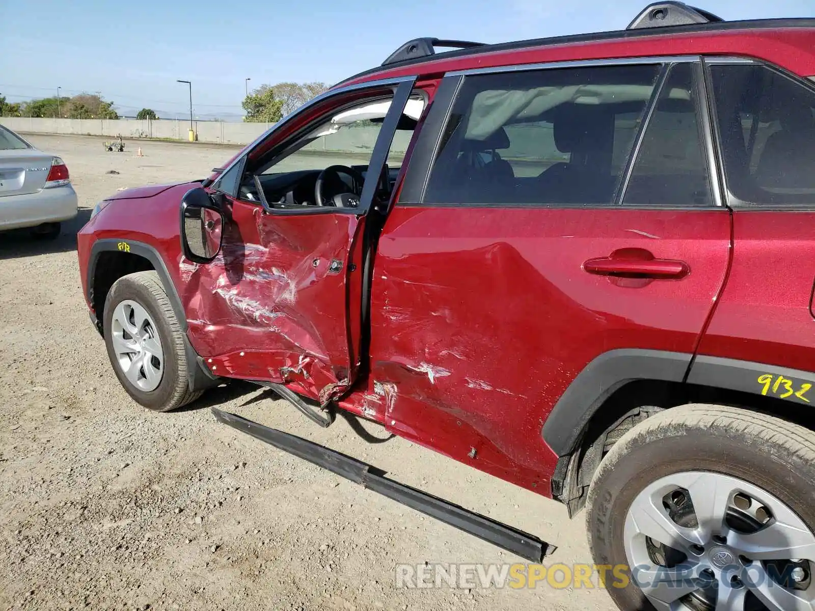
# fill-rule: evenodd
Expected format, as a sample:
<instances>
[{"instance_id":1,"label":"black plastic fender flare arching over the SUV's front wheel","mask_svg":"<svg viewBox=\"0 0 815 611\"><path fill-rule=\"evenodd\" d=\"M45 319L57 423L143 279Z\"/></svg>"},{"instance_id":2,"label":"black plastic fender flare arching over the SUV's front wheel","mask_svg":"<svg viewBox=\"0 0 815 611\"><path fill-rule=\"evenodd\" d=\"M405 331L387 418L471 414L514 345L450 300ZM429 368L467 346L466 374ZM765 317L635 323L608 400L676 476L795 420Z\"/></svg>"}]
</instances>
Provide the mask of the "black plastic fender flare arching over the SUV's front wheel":
<instances>
[{"instance_id":1,"label":"black plastic fender flare arching over the SUV's front wheel","mask_svg":"<svg viewBox=\"0 0 815 611\"><path fill-rule=\"evenodd\" d=\"M139 257L143 257L150 262L153 269L156 270L156 273L159 275L161 284L164 285L165 291L167 292L167 298L170 300L170 305L173 306L175 318L178 319L178 324L181 325L181 330L184 333L184 351L187 353L187 363L196 363L197 365L193 375L190 376L189 389L191 391L203 390L214 385L218 385L220 378L218 378L218 376L214 376L212 372L209 371L209 367L205 365L204 359L200 358L196 350L192 347L192 344L190 344L189 338L187 337L187 314L184 311L181 297L178 297L178 290L175 288L172 276L170 276L170 271L167 270L164 259L158 253L156 248L153 248L150 244L117 238L102 238L100 240L96 240L94 245L90 248L90 257L88 258L86 283L88 290L88 301L90 301L90 303L93 303L94 301L94 278L96 274L96 264L99 262L99 255L106 251L134 254L138 255ZM98 319L99 314L101 313L96 314L96 322L97 328L99 328L101 332L101 325Z\"/></svg>"}]
</instances>

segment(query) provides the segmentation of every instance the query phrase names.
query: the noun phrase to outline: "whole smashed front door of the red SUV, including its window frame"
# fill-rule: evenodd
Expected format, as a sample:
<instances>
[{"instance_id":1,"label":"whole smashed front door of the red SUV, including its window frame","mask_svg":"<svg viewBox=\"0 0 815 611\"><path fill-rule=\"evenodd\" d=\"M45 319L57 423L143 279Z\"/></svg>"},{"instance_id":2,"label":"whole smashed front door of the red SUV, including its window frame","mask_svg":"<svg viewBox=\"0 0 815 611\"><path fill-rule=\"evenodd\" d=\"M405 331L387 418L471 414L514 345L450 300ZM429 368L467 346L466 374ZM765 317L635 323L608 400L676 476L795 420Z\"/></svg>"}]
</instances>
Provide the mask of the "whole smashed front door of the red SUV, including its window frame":
<instances>
[{"instance_id":1,"label":"whole smashed front door of the red SUV, including its window frame","mask_svg":"<svg viewBox=\"0 0 815 611\"><path fill-rule=\"evenodd\" d=\"M365 214L382 195L412 83L328 96L214 183L227 218L222 250L183 273L187 335L216 375L284 384L322 404L354 380ZM364 129L328 140L362 122ZM324 152L362 148L349 138L367 138L368 154Z\"/></svg>"}]
</instances>

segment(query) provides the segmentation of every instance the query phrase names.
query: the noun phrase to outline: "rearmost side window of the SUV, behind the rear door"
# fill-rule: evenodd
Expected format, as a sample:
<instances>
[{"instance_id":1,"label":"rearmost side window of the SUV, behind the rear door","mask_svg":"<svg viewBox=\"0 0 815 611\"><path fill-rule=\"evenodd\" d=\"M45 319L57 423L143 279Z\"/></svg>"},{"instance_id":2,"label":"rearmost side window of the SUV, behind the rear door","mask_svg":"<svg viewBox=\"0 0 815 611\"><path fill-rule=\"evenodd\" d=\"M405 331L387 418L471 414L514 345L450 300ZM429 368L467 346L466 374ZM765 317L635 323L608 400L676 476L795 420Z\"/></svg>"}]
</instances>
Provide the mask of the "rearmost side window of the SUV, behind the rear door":
<instances>
[{"instance_id":1,"label":"rearmost side window of the SUV, behind the rear door","mask_svg":"<svg viewBox=\"0 0 815 611\"><path fill-rule=\"evenodd\" d=\"M734 203L815 204L815 92L759 64L710 73Z\"/></svg>"}]
</instances>

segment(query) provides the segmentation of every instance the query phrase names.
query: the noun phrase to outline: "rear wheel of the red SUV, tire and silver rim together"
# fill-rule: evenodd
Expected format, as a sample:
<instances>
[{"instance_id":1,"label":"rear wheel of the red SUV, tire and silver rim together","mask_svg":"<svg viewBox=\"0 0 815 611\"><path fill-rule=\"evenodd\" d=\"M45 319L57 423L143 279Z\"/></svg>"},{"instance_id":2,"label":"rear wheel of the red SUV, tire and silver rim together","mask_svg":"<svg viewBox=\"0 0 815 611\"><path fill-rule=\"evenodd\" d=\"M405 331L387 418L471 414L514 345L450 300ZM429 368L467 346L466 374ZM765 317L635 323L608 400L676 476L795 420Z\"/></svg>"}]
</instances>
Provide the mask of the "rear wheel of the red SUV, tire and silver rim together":
<instances>
[{"instance_id":1,"label":"rear wheel of the red SUV, tire and silver rim together","mask_svg":"<svg viewBox=\"0 0 815 611\"><path fill-rule=\"evenodd\" d=\"M783 586L769 590L779 602L768 608L791 609L793 599L783 598L789 591L797 596L806 586L806 596L815 592L815 558L793 558L803 563L795 581L801 575L808 579L795 582L790 571L798 565L774 560L790 556L789 550L770 552L774 543L763 552L751 547L751 554L759 556L754 560L745 551L745 542L760 534L767 542L778 539L780 549L784 544L803 545L806 539L810 552L815 551L813 481L815 433L809 429L735 407L687 405L663 411L623 435L593 477L586 514L593 560L620 571L615 574L619 579L606 582L619 609L742 611L752 608L751 597L764 596L758 584L770 584L770 565L777 571L770 585L778 585L781 575ZM720 514L726 516L724 525L716 518ZM784 530L786 526L790 530ZM790 533L795 537L785 539ZM659 534L678 543L666 546ZM684 553L677 556L674 550ZM684 564L672 568L676 562ZM651 575L669 578L683 565L716 589L700 587L681 594L683 590L676 588L650 588L663 579L649 580ZM680 594L686 597L676 599ZM717 596L722 597L718 606ZM712 607L704 606L711 602Z\"/></svg>"}]
</instances>

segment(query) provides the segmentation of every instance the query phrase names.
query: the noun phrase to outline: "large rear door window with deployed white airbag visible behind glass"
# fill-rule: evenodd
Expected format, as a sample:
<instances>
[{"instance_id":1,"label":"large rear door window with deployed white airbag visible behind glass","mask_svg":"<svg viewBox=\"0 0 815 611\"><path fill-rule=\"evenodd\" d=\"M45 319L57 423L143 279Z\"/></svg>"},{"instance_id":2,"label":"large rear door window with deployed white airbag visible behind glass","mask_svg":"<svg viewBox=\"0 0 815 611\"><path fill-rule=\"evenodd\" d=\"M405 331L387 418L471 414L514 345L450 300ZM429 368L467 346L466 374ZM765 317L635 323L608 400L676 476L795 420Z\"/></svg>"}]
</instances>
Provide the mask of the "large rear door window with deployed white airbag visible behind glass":
<instances>
[{"instance_id":1,"label":"large rear door window with deployed white airbag visible behind glass","mask_svg":"<svg viewBox=\"0 0 815 611\"><path fill-rule=\"evenodd\" d=\"M659 65L466 77L425 202L612 204Z\"/></svg>"}]
</instances>

